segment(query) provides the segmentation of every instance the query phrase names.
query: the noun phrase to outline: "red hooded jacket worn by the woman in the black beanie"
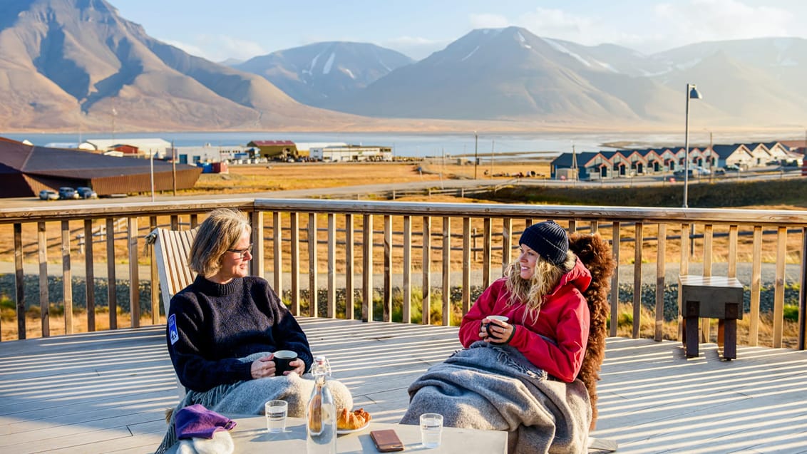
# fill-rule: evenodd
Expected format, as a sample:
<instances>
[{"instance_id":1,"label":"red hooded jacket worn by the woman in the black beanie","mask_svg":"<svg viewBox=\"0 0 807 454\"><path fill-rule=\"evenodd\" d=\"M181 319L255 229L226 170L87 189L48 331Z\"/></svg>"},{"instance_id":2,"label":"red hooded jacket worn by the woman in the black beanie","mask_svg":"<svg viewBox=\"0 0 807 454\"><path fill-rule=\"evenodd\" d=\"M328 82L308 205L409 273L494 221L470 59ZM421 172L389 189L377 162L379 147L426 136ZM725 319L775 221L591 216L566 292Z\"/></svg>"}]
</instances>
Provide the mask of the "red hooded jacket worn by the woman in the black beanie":
<instances>
[{"instance_id":1,"label":"red hooded jacket worn by the woman in the black beanie","mask_svg":"<svg viewBox=\"0 0 807 454\"><path fill-rule=\"evenodd\" d=\"M575 268L564 274L558 286L544 297L541 312L534 323L529 316L525 317L526 306L523 304L508 306L510 293L505 280L503 277L493 282L462 317L459 328L462 346L468 348L480 340L479 326L487 315L506 315L508 323L516 325L516 333L510 340L512 347L551 376L562 381L575 381L583 364L591 321L581 292L588 288L592 274L578 259Z\"/></svg>"}]
</instances>

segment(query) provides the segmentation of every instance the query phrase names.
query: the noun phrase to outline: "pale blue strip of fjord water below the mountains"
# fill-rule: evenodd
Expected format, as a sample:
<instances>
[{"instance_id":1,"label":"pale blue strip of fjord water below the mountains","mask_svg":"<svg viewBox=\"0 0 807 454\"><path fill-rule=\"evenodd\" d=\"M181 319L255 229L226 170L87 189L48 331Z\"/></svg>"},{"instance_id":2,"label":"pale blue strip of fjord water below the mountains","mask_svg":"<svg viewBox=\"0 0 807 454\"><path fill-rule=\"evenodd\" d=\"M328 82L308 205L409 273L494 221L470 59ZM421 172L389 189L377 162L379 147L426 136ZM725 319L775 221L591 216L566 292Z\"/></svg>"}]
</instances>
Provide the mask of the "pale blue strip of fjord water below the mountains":
<instances>
[{"instance_id":1,"label":"pale blue strip of fjord water below the mountains","mask_svg":"<svg viewBox=\"0 0 807 454\"><path fill-rule=\"evenodd\" d=\"M627 141L645 144L676 144L682 142L679 135L646 135L646 134L592 134L592 133L541 133L541 134L495 134L474 132L451 134L416 134L416 133L353 133L353 132L116 132L110 133L14 133L0 136L12 140L28 140L32 144L70 144L82 140L123 138L160 138L174 142L177 147L232 146L246 145L253 140L291 140L294 142L344 142L355 145L377 145L391 147L395 156L474 156L486 159L491 154L503 157L508 153L511 159L518 157L557 156L571 152L574 144L576 152L593 152L610 150L604 144L612 141ZM692 140L692 139L691 139ZM523 155L521 154L523 153Z\"/></svg>"}]
</instances>

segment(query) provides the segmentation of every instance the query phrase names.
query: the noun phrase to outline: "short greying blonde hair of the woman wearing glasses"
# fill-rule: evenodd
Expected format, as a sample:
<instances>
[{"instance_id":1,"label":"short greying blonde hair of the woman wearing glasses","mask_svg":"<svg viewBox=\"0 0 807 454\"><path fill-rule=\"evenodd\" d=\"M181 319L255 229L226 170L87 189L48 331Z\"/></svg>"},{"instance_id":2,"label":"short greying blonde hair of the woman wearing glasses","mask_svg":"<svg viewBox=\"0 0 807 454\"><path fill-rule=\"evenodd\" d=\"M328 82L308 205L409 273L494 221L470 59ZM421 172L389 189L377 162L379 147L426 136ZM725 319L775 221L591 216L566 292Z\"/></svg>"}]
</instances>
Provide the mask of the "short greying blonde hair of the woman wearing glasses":
<instances>
[{"instance_id":1,"label":"short greying blonde hair of the woman wearing glasses","mask_svg":"<svg viewBox=\"0 0 807 454\"><path fill-rule=\"evenodd\" d=\"M214 276L221 269L221 257L236 247L244 231L252 232L244 213L228 208L212 210L190 245L188 266L203 277Z\"/></svg>"}]
</instances>

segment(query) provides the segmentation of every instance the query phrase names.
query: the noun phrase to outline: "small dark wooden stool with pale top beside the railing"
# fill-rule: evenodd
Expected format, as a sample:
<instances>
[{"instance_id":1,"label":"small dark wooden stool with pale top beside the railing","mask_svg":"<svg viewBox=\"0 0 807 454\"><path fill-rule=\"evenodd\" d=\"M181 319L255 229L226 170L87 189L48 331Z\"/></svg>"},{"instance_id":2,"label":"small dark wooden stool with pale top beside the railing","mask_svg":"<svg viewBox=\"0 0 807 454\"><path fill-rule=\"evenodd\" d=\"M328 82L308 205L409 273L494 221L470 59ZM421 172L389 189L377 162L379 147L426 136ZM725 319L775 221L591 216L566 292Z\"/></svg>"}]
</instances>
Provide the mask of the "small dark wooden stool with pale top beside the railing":
<instances>
[{"instance_id":1,"label":"small dark wooden stool with pale top beside the railing","mask_svg":"<svg viewBox=\"0 0 807 454\"><path fill-rule=\"evenodd\" d=\"M717 319L717 348L724 360L737 358L737 320L742 319L742 283L735 277L678 277L684 312L683 343L688 358L698 356L698 319Z\"/></svg>"}]
</instances>

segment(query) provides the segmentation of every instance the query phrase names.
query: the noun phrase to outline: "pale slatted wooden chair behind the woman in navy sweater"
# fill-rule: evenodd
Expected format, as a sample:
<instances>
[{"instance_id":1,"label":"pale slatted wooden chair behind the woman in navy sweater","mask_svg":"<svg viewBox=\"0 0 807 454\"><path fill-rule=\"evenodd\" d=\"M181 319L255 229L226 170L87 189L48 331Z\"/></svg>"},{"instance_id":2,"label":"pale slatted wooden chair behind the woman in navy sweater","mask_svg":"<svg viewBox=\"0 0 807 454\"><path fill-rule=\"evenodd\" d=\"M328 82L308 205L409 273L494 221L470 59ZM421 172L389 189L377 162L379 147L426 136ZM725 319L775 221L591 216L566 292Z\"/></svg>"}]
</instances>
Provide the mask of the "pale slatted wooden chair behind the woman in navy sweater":
<instances>
[{"instance_id":1,"label":"pale slatted wooden chair behind the woman in navy sweater","mask_svg":"<svg viewBox=\"0 0 807 454\"><path fill-rule=\"evenodd\" d=\"M166 316L174 294L190 285L196 277L196 273L188 268L188 252L197 231L198 227L185 231L158 227L146 237L146 243L153 244L154 247L152 257L157 263L157 277L160 280L160 294ZM179 377L177 390L179 398L184 398L185 386L179 382Z\"/></svg>"}]
</instances>

